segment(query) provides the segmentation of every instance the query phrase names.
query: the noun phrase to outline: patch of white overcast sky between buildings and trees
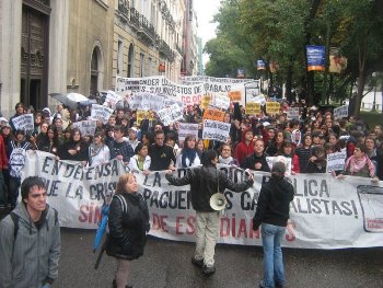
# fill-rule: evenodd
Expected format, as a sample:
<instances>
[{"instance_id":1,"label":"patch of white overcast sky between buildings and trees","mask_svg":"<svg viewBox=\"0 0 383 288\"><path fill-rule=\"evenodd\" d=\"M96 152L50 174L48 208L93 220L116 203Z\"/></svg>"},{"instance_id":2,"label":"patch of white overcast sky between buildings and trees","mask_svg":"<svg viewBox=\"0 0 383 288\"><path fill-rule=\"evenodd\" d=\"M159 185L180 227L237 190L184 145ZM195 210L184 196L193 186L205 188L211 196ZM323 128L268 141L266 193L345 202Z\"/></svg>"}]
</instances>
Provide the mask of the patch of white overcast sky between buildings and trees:
<instances>
[{"instance_id":1,"label":"patch of white overcast sky between buildings and trees","mask_svg":"<svg viewBox=\"0 0 383 288\"><path fill-rule=\"evenodd\" d=\"M199 36L202 38L202 45L216 37L217 24L210 23L212 16L218 12L220 0L194 0L194 8L197 12ZM208 60L204 57L204 62Z\"/></svg>"}]
</instances>

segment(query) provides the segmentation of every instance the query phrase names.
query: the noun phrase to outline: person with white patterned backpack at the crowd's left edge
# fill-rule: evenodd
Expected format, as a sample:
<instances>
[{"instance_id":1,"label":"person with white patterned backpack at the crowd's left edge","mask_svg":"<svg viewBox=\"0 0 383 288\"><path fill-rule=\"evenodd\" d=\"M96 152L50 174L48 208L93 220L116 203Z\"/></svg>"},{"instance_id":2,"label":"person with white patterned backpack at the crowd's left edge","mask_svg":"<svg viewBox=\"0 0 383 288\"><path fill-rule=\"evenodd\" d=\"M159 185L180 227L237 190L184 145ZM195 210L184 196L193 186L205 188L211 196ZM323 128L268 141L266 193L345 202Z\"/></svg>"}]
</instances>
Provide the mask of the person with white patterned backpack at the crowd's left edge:
<instances>
[{"instance_id":1,"label":"person with white patterned backpack at the crowd's left edge","mask_svg":"<svg viewBox=\"0 0 383 288\"><path fill-rule=\"evenodd\" d=\"M16 137L9 142L9 173L10 186L8 192L9 203L14 208L18 200L19 187L21 183L21 172L24 169L26 150L32 149L32 145L25 139L24 130L16 130Z\"/></svg>"}]
</instances>

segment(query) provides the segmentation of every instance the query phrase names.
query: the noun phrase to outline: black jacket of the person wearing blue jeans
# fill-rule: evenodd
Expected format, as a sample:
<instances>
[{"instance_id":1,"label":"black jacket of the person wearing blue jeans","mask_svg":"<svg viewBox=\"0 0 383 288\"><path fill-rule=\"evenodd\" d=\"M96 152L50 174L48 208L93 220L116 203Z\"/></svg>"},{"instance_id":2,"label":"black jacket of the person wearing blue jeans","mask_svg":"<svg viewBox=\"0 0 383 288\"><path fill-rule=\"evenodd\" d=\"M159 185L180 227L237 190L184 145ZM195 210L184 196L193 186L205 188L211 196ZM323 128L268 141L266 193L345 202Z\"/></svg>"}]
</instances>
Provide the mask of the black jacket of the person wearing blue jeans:
<instances>
[{"instance_id":1,"label":"black jacket of the person wearing blue jeans","mask_svg":"<svg viewBox=\"0 0 383 288\"><path fill-rule=\"evenodd\" d=\"M285 178L271 176L262 185L257 209L253 218L253 229L260 223L286 227L290 217L290 201L294 198L294 188Z\"/></svg>"}]
</instances>

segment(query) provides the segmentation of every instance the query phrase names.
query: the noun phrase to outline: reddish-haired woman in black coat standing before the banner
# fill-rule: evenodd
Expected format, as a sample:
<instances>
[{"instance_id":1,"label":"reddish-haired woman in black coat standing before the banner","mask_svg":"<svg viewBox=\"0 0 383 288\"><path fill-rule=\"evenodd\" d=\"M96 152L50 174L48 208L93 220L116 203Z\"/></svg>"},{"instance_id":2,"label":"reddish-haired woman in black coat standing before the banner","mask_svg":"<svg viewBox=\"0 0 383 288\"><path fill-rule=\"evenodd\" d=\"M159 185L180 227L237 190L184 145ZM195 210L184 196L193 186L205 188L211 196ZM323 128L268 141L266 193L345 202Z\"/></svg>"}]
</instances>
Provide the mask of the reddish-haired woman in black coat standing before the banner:
<instances>
[{"instance_id":1,"label":"reddish-haired woman in black coat standing before the banner","mask_svg":"<svg viewBox=\"0 0 383 288\"><path fill-rule=\"evenodd\" d=\"M124 174L118 180L109 207L108 227L106 254L117 258L113 287L129 287L127 281L130 261L143 255L147 232L150 230L148 206L138 193L138 183L131 173Z\"/></svg>"}]
</instances>

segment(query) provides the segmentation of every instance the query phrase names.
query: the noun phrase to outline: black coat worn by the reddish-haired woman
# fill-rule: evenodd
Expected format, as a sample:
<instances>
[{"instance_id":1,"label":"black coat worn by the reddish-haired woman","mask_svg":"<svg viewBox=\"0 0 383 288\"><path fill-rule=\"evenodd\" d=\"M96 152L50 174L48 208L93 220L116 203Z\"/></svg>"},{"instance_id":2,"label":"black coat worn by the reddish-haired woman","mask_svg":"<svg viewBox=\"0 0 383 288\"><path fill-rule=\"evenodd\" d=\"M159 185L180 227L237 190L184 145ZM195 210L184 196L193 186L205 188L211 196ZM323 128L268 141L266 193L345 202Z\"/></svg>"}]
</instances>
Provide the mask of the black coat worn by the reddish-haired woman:
<instances>
[{"instance_id":1,"label":"black coat worn by the reddish-haired woman","mask_svg":"<svg viewBox=\"0 0 383 288\"><path fill-rule=\"evenodd\" d=\"M109 209L109 243L106 253L123 260L136 260L143 255L143 247L149 232L149 210L139 193L120 194L126 200L123 204L117 196L113 197Z\"/></svg>"}]
</instances>

